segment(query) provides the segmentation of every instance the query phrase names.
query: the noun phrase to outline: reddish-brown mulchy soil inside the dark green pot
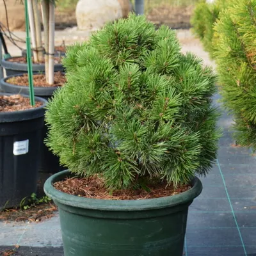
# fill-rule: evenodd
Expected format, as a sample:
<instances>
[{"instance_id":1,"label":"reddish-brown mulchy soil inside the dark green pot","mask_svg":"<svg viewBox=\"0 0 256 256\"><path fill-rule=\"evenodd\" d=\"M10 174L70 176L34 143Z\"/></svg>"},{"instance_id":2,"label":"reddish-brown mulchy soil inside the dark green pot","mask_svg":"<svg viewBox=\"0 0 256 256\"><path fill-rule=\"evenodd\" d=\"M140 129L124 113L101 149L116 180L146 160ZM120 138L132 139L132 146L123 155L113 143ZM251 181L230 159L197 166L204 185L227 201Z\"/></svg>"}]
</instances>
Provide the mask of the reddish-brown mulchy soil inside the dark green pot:
<instances>
[{"instance_id":1,"label":"reddish-brown mulchy soil inside the dark green pot","mask_svg":"<svg viewBox=\"0 0 256 256\"><path fill-rule=\"evenodd\" d=\"M174 188L168 186L166 182L155 182L147 185L147 188L140 189L122 189L109 193L104 187L104 180L95 175L88 178L72 177L54 183L54 188L67 193L86 198L105 199L105 200L140 200L172 196L187 191L191 188L189 185Z\"/></svg>"}]
</instances>

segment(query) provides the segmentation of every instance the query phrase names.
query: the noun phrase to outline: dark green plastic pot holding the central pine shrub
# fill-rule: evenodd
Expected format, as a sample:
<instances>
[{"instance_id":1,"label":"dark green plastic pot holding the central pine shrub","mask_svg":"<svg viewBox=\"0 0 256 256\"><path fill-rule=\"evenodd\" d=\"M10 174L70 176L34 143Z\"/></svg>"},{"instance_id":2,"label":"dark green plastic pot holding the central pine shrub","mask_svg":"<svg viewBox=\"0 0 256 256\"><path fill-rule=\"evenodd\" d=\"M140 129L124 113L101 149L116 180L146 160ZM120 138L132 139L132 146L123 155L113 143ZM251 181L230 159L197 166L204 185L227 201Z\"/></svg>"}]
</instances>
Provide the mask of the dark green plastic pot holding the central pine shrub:
<instances>
[{"instance_id":1,"label":"dark green plastic pot holding the central pine shrub","mask_svg":"<svg viewBox=\"0 0 256 256\"><path fill-rule=\"evenodd\" d=\"M182 256L188 207L202 191L198 178L184 193L146 200L99 200L68 195L44 185L60 212L65 256Z\"/></svg>"}]
</instances>

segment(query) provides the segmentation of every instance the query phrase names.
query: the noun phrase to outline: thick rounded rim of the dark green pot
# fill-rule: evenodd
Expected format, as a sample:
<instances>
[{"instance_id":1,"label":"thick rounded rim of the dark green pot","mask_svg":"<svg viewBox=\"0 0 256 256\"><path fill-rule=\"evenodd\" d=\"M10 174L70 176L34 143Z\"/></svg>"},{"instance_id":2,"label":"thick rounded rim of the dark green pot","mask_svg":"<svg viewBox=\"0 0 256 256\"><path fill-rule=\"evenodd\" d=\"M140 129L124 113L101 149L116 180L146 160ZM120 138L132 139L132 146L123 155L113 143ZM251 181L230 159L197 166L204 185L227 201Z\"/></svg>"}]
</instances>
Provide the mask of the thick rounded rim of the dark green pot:
<instances>
[{"instance_id":1,"label":"thick rounded rim of the dark green pot","mask_svg":"<svg viewBox=\"0 0 256 256\"><path fill-rule=\"evenodd\" d=\"M192 202L196 196L202 192L202 182L197 177L191 181L193 187L188 191L173 196L164 196L161 198L142 199L142 200L102 200L94 198L84 198L74 195L68 195L54 188L52 184L57 181L70 177L69 170L56 173L49 177L44 184L44 191L52 200L72 207L82 209L92 209L99 211L146 211L154 209L163 209L174 207L176 205Z\"/></svg>"}]
</instances>

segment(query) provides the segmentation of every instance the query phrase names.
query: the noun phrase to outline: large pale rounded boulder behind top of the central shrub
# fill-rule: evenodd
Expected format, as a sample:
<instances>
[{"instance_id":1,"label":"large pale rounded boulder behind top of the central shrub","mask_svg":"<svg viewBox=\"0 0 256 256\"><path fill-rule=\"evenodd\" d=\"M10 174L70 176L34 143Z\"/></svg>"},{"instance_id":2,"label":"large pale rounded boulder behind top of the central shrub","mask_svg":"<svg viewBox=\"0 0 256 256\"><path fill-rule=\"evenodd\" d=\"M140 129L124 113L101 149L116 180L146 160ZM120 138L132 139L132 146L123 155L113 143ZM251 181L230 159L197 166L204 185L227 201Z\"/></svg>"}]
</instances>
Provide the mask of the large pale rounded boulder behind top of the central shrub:
<instances>
[{"instance_id":1,"label":"large pale rounded boulder behind top of the central shrub","mask_svg":"<svg viewBox=\"0 0 256 256\"><path fill-rule=\"evenodd\" d=\"M129 0L79 0L76 6L76 20L79 30L94 31L106 22L127 17L132 11Z\"/></svg>"}]
</instances>

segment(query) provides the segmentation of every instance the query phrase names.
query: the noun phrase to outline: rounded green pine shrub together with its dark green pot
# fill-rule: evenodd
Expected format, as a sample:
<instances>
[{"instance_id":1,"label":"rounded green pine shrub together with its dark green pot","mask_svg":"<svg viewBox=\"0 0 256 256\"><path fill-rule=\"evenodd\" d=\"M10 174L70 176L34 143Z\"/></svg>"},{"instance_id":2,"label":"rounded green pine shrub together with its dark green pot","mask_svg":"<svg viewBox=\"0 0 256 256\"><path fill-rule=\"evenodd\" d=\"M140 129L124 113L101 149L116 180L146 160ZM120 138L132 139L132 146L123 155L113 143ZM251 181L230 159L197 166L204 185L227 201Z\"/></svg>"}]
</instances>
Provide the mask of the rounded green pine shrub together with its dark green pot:
<instances>
[{"instance_id":1,"label":"rounded green pine shrub together with its dark green pot","mask_svg":"<svg viewBox=\"0 0 256 256\"><path fill-rule=\"evenodd\" d=\"M220 136L212 69L133 14L69 47L63 63L46 142L69 170L44 190L65 256L182 256L196 175L211 169Z\"/></svg>"}]
</instances>

